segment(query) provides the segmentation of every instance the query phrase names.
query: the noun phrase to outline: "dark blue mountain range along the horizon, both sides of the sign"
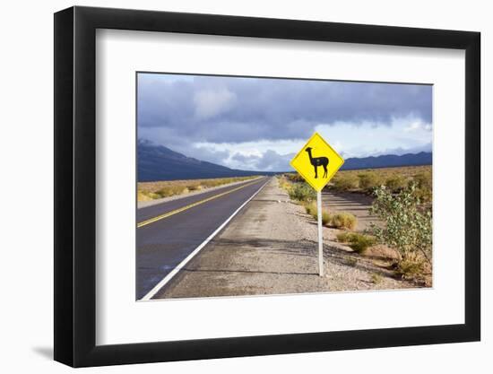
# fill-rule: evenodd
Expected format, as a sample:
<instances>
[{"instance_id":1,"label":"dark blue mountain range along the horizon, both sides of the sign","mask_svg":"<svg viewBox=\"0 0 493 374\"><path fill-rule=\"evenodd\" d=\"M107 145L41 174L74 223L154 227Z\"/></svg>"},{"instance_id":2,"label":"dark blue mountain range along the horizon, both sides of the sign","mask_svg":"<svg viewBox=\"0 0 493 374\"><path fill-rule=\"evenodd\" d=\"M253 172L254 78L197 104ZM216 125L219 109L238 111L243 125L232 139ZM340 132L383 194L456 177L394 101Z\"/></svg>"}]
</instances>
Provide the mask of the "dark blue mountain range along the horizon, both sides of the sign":
<instances>
[{"instance_id":1,"label":"dark blue mountain range along the horizon, both sides of the sign","mask_svg":"<svg viewBox=\"0 0 493 374\"><path fill-rule=\"evenodd\" d=\"M212 162L186 157L169 148L139 140L137 144L139 182L155 180L200 179L246 177L251 175L274 175L281 172L251 171L229 169ZM350 158L342 165L342 170L389 168L397 166L430 165L431 152L408 153L400 156L385 154L363 158ZM286 170L292 171L292 170Z\"/></svg>"}]
</instances>

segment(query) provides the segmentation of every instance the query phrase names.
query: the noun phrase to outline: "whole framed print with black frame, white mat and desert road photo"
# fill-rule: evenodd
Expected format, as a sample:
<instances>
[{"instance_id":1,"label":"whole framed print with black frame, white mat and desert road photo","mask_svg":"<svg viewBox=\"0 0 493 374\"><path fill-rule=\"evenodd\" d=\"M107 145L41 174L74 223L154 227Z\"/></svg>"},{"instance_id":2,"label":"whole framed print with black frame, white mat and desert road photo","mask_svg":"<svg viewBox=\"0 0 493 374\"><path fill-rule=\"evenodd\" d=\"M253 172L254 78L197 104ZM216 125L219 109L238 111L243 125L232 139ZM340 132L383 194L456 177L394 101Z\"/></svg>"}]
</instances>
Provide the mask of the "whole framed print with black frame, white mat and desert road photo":
<instances>
[{"instance_id":1,"label":"whole framed print with black frame, white mat and desert road photo","mask_svg":"<svg viewBox=\"0 0 493 374\"><path fill-rule=\"evenodd\" d=\"M55 359L480 340L480 34L55 14Z\"/></svg>"}]
</instances>

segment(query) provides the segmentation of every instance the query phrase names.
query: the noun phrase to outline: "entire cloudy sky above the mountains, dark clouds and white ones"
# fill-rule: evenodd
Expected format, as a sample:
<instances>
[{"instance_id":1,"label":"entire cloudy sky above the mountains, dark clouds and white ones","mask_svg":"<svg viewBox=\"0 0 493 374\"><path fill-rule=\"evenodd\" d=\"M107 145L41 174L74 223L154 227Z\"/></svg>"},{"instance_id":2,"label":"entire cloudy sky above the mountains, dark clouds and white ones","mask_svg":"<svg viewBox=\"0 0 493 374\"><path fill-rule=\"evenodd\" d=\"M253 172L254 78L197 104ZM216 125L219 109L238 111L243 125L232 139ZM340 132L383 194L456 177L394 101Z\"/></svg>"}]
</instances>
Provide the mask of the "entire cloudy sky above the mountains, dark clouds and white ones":
<instances>
[{"instance_id":1,"label":"entire cloudy sky above the mountains, dark clouds and white ones","mask_svg":"<svg viewBox=\"0 0 493 374\"><path fill-rule=\"evenodd\" d=\"M344 158L431 151L432 87L139 74L139 139L242 170L290 170L318 131Z\"/></svg>"}]
</instances>

